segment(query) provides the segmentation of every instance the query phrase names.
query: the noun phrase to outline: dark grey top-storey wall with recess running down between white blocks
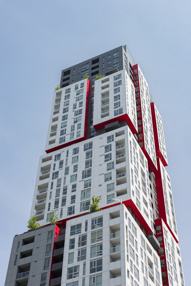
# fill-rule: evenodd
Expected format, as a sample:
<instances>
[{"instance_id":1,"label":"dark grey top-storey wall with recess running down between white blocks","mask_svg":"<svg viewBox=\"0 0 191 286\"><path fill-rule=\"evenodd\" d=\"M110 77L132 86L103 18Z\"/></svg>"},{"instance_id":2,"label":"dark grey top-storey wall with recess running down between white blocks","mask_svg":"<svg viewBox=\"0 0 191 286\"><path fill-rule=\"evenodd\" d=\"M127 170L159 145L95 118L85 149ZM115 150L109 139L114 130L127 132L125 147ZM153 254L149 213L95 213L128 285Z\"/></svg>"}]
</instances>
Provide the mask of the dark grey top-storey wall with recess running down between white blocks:
<instances>
[{"instance_id":1,"label":"dark grey top-storey wall with recess running down between white blocks","mask_svg":"<svg viewBox=\"0 0 191 286\"><path fill-rule=\"evenodd\" d=\"M116 56L113 54L119 52L119 60L116 61ZM108 56L111 55L111 63L108 64ZM103 67L103 57L104 57L104 67ZM117 64L117 66L116 66ZM60 88L83 80L83 75L87 73L89 75L90 81L90 100L89 100L89 113L88 113L88 138L92 138L99 135L100 132L105 132L104 130L96 132L94 128L90 129L90 125L93 122L93 104L94 104L94 78L97 74L105 74L106 76L122 69L125 69L133 81L133 69L132 66L135 64L127 46L120 46L113 50L107 51L86 61L82 61L76 65L68 67L62 70ZM89 67L82 71L83 65L89 65ZM80 68L80 71L79 71ZM74 72L75 71L75 72ZM79 72L78 72L79 71ZM122 126L122 125L121 125Z\"/></svg>"}]
</instances>

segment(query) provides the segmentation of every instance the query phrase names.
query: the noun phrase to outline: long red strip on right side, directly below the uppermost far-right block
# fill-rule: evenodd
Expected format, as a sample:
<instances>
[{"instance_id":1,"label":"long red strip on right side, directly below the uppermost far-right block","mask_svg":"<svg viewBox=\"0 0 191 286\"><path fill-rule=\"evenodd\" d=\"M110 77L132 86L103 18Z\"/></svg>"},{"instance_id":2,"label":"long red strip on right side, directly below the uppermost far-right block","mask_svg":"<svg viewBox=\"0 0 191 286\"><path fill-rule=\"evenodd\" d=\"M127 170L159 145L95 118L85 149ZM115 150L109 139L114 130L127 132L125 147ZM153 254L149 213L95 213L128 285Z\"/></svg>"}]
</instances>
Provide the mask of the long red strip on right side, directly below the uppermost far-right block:
<instances>
[{"instance_id":1,"label":"long red strip on right side, directly below the uppermost far-right block","mask_svg":"<svg viewBox=\"0 0 191 286\"><path fill-rule=\"evenodd\" d=\"M166 218L166 208L165 208L165 200L164 200L164 192L163 192L163 185L162 185L162 176L161 176L161 168L160 168L160 159L157 158L157 171L155 172L155 182L156 182L156 191L157 191L157 201L158 201L158 209L159 209L159 216L163 219L164 223L168 227L168 230L174 237L175 241L178 243L177 238L175 237L172 229L167 223Z\"/></svg>"}]
</instances>

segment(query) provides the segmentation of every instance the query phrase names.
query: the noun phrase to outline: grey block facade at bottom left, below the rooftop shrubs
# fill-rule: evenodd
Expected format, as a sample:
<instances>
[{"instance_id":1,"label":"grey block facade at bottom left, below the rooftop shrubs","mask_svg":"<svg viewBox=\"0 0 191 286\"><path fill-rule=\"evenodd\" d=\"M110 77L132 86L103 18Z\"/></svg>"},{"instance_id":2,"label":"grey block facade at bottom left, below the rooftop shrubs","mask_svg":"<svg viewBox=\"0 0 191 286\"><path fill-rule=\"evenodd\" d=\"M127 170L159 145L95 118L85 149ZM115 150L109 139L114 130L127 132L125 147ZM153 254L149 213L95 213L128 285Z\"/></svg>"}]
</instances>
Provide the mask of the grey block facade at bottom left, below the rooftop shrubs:
<instances>
[{"instance_id":1,"label":"grey block facade at bottom left, below the rooftop shrubs","mask_svg":"<svg viewBox=\"0 0 191 286\"><path fill-rule=\"evenodd\" d=\"M51 231L53 231L52 242L47 242L48 232ZM41 275L45 273L47 273L46 283L41 285L48 285L50 267L49 270L44 271L44 261L50 258L51 264L54 231L55 225L48 225L14 237L5 286L39 286L41 283ZM19 241L20 246L19 249L17 249ZM50 256L45 257L47 244L51 245L51 253ZM15 255L18 255L16 262ZM27 273L27 271L29 271L29 273ZM17 279L17 274L24 272L26 272L27 276Z\"/></svg>"}]
</instances>

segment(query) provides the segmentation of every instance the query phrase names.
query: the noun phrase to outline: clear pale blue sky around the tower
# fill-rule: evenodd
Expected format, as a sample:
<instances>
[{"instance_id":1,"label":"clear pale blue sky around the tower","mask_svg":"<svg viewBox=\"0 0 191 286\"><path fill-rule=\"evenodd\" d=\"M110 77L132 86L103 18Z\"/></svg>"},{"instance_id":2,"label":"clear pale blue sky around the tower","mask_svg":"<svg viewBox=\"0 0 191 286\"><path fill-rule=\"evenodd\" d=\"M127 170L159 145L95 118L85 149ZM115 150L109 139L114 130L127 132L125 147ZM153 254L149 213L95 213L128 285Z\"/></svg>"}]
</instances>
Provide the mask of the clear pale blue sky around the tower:
<instances>
[{"instance_id":1,"label":"clear pale blue sky around the tower","mask_svg":"<svg viewBox=\"0 0 191 286\"><path fill-rule=\"evenodd\" d=\"M0 11L1 279L14 235L27 231L61 70L127 45L162 116L189 285L191 2L0 0Z\"/></svg>"}]
</instances>

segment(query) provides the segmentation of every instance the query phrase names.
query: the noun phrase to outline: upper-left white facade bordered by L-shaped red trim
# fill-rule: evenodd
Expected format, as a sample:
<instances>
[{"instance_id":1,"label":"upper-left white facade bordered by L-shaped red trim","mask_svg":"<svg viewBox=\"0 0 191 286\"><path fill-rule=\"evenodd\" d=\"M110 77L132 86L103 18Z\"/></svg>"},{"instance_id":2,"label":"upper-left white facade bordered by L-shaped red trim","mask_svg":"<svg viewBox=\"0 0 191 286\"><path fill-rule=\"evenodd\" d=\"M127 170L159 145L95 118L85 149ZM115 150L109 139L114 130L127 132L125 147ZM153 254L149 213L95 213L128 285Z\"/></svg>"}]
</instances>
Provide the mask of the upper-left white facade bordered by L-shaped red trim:
<instances>
[{"instance_id":1,"label":"upper-left white facade bordered by L-shaped red trim","mask_svg":"<svg viewBox=\"0 0 191 286\"><path fill-rule=\"evenodd\" d=\"M66 86L65 88L60 88L59 90L55 90L45 150L84 137L87 81L88 79L81 80L77 83ZM77 85L78 88L75 89L75 86ZM80 88L81 85L82 87ZM80 92L79 95L77 95L78 92ZM78 97L80 98L78 99ZM65 106L65 104L67 105ZM73 108L74 104L76 104L76 109ZM68 112L63 113L64 108L68 108ZM74 116L74 112L77 110L81 110L82 113L78 116ZM67 116L65 120L62 119L64 115ZM78 119L78 122L74 123L74 118L79 116L81 116L81 119ZM66 127L61 126L64 122L66 122L67 124ZM81 123L81 128L77 129L77 124L80 123ZM75 125L74 132L71 131L71 126L73 125ZM63 131L64 129L66 129L66 133L64 135L61 135L60 132ZM77 136L78 131L81 132L80 135L78 134ZM70 140L71 133L74 133L74 138ZM60 138L64 136L65 136L65 141L59 143Z\"/></svg>"}]
</instances>

